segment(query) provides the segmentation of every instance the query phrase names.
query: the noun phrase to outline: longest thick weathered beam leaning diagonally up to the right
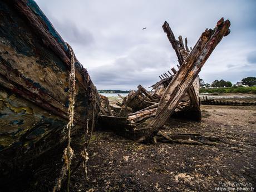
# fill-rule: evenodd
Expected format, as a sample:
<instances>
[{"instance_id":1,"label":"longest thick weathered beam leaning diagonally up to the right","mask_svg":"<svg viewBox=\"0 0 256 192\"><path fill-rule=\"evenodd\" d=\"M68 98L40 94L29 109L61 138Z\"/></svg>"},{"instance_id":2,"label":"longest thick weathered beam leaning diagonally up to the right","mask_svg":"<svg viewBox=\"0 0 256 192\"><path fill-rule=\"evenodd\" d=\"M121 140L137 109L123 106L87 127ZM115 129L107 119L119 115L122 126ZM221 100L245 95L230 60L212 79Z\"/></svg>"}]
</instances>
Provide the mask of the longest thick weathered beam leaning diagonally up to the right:
<instances>
[{"instance_id":1,"label":"longest thick weathered beam leaning diagonally up to the right","mask_svg":"<svg viewBox=\"0 0 256 192\"><path fill-rule=\"evenodd\" d=\"M203 67L216 45L218 45L229 31L229 26L230 22L228 20L224 21L221 18L214 29L206 29L203 32L193 50L184 61L185 65L181 65L180 70L173 77L173 80L161 96L155 117L136 127L136 129L149 128L149 131L140 140L155 135L165 124L178 106L181 97L188 91L198 76L201 67Z\"/></svg>"}]
</instances>

